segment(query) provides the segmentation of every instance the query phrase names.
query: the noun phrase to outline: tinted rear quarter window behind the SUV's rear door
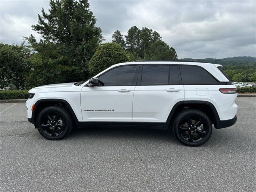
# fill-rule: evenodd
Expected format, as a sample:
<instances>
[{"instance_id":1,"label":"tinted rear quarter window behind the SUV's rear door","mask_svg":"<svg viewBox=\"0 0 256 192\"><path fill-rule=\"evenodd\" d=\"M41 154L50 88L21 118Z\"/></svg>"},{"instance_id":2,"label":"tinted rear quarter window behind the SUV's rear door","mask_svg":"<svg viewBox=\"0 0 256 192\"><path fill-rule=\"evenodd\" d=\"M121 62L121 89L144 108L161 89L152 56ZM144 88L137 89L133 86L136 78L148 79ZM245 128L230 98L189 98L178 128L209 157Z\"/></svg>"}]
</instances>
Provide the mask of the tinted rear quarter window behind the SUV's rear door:
<instances>
[{"instance_id":1,"label":"tinted rear quarter window behind the SUV's rear door","mask_svg":"<svg viewBox=\"0 0 256 192\"><path fill-rule=\"evenodd\" d=\"M182 83L184 85L214 85L218 82L203 68L180 65Z\"/></svg>"}]
</instances>

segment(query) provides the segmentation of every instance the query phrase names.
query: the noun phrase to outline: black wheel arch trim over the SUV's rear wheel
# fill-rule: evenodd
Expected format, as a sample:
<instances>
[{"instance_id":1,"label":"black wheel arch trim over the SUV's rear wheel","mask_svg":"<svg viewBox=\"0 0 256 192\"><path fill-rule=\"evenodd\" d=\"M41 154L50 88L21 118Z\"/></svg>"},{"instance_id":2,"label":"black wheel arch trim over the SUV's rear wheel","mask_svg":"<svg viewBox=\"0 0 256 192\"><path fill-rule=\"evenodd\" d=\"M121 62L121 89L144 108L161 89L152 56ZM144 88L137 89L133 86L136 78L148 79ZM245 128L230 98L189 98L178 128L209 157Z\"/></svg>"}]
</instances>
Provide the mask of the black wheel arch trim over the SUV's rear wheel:
<instances>
[{"instance_id":1,"label":"black wheel arch trim over the SUV's rear wheel","mask_svg":"<svg viewBox=\"0 0 256 192\"><path fill-rule=\"evenodd\" d=\"M210 118L210 120L211 120L212 124L214 124L214 126L216 126L217 122L220 120L218 112L217 112L215 106L211 102L187 100L187 101L177 102L173 106L173 108L167 118L167 121L166 121L169 124L169 126L172 126L174 119L179 112L181 112L182 110L188 109L188 108L197 109L197 110L204 112Z\"/></svg>"}]
</instances>

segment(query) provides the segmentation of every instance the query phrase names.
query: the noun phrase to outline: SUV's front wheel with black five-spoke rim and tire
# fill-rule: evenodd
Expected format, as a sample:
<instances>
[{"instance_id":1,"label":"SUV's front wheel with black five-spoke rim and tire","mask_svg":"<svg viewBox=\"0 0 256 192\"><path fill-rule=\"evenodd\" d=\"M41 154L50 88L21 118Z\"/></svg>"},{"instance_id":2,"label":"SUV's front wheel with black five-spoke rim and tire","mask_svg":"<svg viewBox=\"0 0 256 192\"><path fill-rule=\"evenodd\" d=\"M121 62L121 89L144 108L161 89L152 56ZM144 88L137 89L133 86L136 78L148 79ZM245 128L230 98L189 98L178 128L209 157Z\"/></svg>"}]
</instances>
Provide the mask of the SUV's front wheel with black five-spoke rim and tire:
<instances>
[{"instance_id":1,"label":"SUV's front wheel with black five-spoke rim and tire","mask_svg":"<svg viewBox=\"0 0 256 192\"><path fill-rule=\"evenodd\" d=\"M48 140L60 140L72 131L73 119L66 108L49 106L38 114L36 127L44 138Z\"/></svg>"}]
</instances>

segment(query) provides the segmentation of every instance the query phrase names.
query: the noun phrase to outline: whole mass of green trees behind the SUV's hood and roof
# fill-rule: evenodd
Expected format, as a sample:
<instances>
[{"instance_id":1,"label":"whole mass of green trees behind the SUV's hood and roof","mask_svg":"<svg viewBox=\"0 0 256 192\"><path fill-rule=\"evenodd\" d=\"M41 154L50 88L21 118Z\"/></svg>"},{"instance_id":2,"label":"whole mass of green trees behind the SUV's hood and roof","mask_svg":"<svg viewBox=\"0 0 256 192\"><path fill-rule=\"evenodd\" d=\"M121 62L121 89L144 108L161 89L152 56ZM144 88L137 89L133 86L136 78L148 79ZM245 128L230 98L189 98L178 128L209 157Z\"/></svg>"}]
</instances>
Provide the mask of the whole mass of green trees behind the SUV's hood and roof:
<instances>
[{"instance_id":1,"label":"whole mass of green trees behind the SUV's hood and roof","mask_svg":"<svg viewBox=\"0 0 256 192\"><path fill-rule=\"evenodd\" d=\"M115 31L113 42L102 44L88 0L50 0L49 11L42 8L32 29L39 41L31 35L25 38L28 45L0 44L0 89L77 82L119 62L178 58L158 32L146 27L131 27L125 40Z\"/></svg>"}]
</instances>

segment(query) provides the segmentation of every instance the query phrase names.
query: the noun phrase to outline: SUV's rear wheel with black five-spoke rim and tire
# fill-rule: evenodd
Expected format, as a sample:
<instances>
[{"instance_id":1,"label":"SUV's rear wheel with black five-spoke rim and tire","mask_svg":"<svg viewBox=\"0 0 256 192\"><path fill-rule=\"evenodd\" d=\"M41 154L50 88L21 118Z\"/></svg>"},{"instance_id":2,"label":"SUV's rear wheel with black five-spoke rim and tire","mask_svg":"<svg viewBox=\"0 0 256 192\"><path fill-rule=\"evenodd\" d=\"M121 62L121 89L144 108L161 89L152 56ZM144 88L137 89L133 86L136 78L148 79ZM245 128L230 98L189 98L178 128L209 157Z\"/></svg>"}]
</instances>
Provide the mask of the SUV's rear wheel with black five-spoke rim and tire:
<instances>
[{"instance_id":1,"label":"SUV's rear wheel with black five-spoke rim and tire","mask_svg":"<svg viewBox=\"0 0 256 192\"><path fill-rule=\"evenodd\" d=\"M202 111L184 110L174 120L173 133L186 146L200 146L212 135L212 123Z\"/></svg>"}]
</instances>

